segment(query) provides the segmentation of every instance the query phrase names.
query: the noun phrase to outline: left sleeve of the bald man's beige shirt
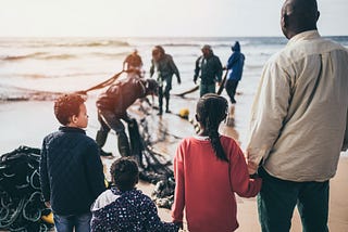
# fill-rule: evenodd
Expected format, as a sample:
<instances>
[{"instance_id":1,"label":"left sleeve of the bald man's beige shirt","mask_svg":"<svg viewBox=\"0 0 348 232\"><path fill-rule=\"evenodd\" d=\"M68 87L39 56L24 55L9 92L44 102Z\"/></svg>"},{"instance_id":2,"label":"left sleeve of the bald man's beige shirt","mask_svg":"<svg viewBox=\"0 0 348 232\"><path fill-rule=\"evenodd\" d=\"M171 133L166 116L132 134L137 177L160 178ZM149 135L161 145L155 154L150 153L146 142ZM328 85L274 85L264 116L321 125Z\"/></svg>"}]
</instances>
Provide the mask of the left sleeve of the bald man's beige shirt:
<instances>
[{"instance_id":1,"label":"left sleeve of the bald man's beige shirt","mask_svg":"<svg viewBox=\"0 0 348 232\"><path fill-rule=\"evenodd\" d=\"M291 81L287 72L272 62L264 66L251 108L247 158L257 164L266 159L282 127L291 100Z\"/></svg>"}]
</instances>

